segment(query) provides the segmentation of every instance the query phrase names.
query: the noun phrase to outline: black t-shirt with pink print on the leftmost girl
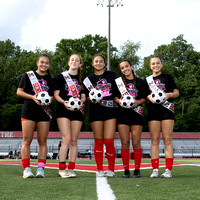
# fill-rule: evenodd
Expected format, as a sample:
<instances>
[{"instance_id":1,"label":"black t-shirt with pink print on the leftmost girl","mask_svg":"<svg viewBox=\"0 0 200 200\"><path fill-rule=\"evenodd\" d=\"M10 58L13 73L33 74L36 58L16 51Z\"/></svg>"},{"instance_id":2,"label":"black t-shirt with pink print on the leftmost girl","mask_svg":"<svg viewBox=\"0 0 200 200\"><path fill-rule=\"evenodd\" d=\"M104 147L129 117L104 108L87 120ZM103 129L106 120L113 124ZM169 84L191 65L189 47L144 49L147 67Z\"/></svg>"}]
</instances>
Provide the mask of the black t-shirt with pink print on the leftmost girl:
<instances>
[{"instance_id":1,"label":"black t-shirt with pink print on the leftmost girl","mask_svg":"<svg viewBox=\"0 0 200 200\"><path fill-rule=\"evenodd\" d=\"M40 87L42 89L42 91L47 91L49 93L50 96L53 96L53 92L54 92L54 87L53 87L53 81L52 79L48 76L41 76L39 75L36 71L34 71L38 82L40 83ZM34 89L33 86L30 82L30 79L27 75L27 73L24 74L24 76L22 77L18 88L23 88L24 92L34 95ZM29 113L29 112L36 112L38 110L42 110L42 106L36 104L33 100L31 99L24 99L24 105L22 108L22 111L25 113Z\"/></svg>"}]
</instances>

